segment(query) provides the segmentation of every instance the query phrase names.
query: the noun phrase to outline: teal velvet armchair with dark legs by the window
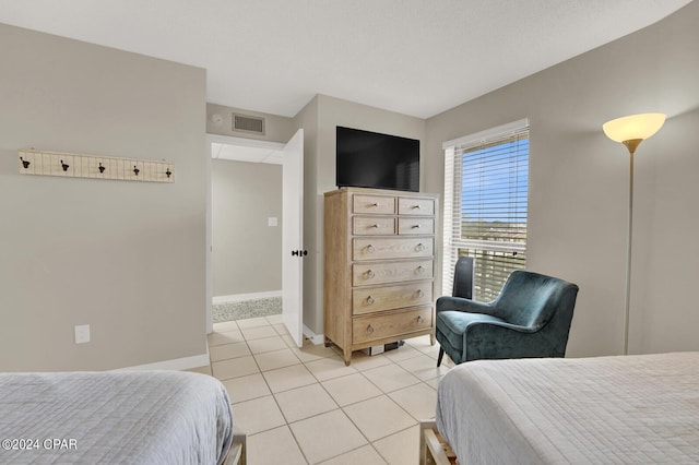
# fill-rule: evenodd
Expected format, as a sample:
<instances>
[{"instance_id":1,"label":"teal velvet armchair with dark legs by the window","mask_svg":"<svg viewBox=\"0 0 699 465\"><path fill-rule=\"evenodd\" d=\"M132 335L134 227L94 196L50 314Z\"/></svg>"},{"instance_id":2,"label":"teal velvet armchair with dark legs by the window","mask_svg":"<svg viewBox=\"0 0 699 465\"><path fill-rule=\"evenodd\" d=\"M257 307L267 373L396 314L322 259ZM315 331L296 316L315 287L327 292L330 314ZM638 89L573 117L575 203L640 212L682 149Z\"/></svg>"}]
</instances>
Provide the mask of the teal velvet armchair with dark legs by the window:
<instances>
[{"instance_id":1,"label":"teal velvet armchair with dark legs by the window","mask_svg":"<svg viewBox=\"0 0 699 465\"><path fill-rule=\"evenodd\" d=\"M478 359L564 357L578 286L538 273L510 274L491 302L437 299L437 366Z\"/></svg>"}]
</instances>

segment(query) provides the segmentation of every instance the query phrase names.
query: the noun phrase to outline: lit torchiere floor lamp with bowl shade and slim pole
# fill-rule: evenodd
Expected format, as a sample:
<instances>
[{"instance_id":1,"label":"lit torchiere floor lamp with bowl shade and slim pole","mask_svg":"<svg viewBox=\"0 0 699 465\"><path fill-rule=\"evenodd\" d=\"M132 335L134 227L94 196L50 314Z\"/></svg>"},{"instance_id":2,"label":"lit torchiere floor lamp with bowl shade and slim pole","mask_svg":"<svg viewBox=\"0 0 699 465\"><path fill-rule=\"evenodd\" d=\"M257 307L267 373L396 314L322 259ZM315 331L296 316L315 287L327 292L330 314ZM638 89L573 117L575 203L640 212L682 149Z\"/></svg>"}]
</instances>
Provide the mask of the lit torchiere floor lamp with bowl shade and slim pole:
<instances>
[{"instance_id":1,"label":"lit torchiere floor lamp with bowl shade and slim pole","mask_svg":"<svg viewBox=\"0 0 699 465\"><path fill-rule=\"evenodd\" d=\"M663 114L631 115L613 119L602 126L607 138L626 145L630 155L629 227L626 250L626 309L624 313L624 355L629 353L629 312L631 300L631 238L633 230L633 154L638 145L656 133L665 122Z\"/></svg>"}]
</instances>

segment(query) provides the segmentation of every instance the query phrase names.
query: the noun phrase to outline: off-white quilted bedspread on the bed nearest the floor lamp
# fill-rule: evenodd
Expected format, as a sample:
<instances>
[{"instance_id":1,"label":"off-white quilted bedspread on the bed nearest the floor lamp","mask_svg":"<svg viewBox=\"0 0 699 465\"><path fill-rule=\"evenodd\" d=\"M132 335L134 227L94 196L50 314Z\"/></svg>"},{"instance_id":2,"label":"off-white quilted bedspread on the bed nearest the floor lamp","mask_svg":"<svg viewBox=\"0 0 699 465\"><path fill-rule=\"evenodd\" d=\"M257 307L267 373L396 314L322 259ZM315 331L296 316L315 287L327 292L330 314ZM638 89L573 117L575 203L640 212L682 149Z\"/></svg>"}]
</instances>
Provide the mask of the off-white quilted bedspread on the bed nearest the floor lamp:
<instances>
[{"instance_id":1,"label":"off-white quilted bedspread on the bed nearest the floor lamp","mask_svg":"<svg viewBox=\"0 0 699 465\"><path fill-rule=\"evenodd\" d=\"M699 353L462 363L436 425L461 464L696 464Z\"/></svg>"}]
</instances>

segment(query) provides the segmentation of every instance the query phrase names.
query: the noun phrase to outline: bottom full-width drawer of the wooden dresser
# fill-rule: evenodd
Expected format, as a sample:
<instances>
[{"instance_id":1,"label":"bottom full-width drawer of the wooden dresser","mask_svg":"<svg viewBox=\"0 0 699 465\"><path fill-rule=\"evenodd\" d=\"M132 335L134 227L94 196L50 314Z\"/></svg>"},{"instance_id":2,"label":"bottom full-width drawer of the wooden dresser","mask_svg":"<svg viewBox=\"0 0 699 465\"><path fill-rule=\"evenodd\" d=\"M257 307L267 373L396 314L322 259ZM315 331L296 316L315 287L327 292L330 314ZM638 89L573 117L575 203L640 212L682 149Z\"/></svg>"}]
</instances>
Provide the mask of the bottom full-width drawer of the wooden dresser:
<instances>
[{"instance_id":1,"label":"bottom full-width drawer of the wooden dresser","mask_svg":"<svg viewBox=\"0 0 699 465\"><path fill-rule=\"evenodd\" d=\"M354 344L363 344L393 336L401 338L415 331L429 330L431 325L431 307L358 317L352 320L352 341Z\"/></svg>"}]
</instances>

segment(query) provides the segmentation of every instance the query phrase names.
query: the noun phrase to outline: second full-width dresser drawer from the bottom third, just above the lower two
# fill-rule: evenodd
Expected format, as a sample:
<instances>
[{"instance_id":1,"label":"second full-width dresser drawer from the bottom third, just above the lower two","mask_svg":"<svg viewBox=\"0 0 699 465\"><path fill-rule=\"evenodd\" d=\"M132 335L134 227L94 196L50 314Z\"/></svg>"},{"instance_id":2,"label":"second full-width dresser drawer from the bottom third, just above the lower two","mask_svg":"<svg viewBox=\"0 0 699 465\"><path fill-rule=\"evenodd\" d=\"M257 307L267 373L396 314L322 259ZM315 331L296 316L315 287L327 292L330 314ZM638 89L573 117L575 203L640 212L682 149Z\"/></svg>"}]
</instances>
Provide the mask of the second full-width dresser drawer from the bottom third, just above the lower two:
<instances>
[{"instance_id":1,"label":"second full-width dresser drawer from the bottom third, just above the lower two","mask_svg":"<svg viewBox=\"0 0 699 465\"><path fill-rule=\"evenodd\" d=\"M355 263L352 265L353 286L371 286L375 284L431 278L431 260Z\"/></svg>"}]
</instances>

